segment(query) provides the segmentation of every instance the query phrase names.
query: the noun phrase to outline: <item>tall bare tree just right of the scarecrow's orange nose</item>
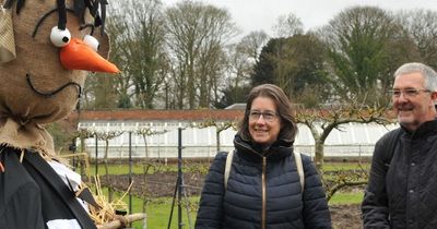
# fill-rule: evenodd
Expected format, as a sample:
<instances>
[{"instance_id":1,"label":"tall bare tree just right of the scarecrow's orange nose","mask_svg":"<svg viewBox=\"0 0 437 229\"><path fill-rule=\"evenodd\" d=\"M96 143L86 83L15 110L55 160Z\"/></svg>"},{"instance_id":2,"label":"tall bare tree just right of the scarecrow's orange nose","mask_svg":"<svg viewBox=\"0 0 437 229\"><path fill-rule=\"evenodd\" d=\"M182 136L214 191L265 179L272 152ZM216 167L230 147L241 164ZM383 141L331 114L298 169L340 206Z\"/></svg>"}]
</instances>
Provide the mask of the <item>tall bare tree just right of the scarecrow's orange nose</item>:
<instances>
[{"instance_id":1,"label":"tall bare tree just right of the scarecrow's orange nose","mask_svg":"<svg viewBox=\"0 0 437 229\"><path fill-rule=\"evenodd\" d=\"M113 60L121 69L115 87L118 107L153 108L168 71L162 3L118 2L107 21L107 31L113 37Z\"/></svg>"}]
</instances>

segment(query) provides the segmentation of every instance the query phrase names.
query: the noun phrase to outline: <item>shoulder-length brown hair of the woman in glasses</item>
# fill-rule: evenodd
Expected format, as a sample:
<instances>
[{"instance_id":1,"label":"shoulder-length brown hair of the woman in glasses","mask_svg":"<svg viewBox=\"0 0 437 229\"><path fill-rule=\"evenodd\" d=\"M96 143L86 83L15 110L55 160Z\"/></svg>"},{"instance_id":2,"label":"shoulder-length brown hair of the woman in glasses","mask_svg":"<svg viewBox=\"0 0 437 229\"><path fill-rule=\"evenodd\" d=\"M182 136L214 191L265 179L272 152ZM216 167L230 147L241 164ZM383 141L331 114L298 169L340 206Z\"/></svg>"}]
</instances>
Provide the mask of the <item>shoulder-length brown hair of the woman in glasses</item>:
<instances>
[{"instance_id":1,"label":"shoulder-length brown hair of the woman in glasses","mask_svg":"<svg viewBox=\"0 0 437 229\"><path fill-rule=\"evenodd\" d=\"M297 134L297 125L292 114L292 105L284 91L273 84L261 84L250 91L249 97L246 101L245 117L239 123L238 135L244 141L251 141L251 136L249 133L249 112L253 100L258 97L271 98L276 105L276 112L279 118L281 119L281 131L277 140L294 142L294 138Z\"/></svg>"}]
</instances>

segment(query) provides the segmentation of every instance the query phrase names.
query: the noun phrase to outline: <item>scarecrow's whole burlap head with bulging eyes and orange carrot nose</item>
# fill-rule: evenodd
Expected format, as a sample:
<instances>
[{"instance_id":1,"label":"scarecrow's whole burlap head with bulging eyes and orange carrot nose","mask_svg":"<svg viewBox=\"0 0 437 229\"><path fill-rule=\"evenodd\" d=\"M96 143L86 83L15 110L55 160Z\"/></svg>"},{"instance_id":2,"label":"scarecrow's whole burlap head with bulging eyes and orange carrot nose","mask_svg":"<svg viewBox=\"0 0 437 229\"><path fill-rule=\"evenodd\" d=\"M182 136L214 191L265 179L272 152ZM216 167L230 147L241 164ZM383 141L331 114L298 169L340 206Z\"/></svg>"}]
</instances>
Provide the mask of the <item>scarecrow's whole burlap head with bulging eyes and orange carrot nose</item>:
<instances>
[{"instance_id":1,"label":"scarecrow's whole burlap head with bulging eyes and orange carrot nose","mask_svg":"<svg viewBox=\"0 0 437 229\"><path fill-rule=\"evenodd\" d=\"M0 144L52 153L51 137L42 124L74 109L90 71L118 72L105 59L106 4L106 0L3 2Z\"/></svg>"}]
</instances>

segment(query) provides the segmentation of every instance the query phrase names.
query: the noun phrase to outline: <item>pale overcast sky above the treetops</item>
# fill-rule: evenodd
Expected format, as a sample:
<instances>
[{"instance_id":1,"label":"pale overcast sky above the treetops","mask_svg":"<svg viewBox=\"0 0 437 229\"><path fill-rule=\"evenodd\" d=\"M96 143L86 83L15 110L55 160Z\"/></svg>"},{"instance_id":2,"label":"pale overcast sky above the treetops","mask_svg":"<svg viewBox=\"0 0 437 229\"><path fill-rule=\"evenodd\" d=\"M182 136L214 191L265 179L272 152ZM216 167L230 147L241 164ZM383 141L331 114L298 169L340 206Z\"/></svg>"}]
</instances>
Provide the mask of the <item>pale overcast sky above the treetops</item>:
<instances>
[{"instance_id":1,"label":"pale overcast sky above the treetops","mask_svg":"<svg viewBox=\"0 0 437 229\"><path fill-rule=\"evenodd\" d=\"M162 0L166 7L181 0ZM437 0L201 0L225 8L244 35L252 31L272 34L280 15L293 12L304 23L305 31L328 24L340 11L355 5L376 5L385 10L430 9L437 11Z\"/></svg>"}]
</instances>

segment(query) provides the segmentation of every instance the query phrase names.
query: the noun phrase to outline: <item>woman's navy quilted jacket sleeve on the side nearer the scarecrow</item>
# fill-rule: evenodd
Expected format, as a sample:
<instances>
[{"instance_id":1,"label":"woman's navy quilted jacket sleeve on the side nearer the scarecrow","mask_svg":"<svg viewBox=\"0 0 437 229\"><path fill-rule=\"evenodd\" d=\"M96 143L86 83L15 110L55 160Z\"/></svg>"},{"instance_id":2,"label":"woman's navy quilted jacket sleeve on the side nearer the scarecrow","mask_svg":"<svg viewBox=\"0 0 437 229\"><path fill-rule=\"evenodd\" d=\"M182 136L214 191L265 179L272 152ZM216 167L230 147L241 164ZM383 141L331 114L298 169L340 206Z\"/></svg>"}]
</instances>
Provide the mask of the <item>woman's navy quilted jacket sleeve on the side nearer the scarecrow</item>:
<instances>
[{"instance_id":1,"label":"woman's navy quilted jacket sleeve on the side nearer the scarecrow","mask_svg":"<svg viewBox=\"0 0 437 229\"><path fill-rule=\"evenodd\" d=\"M200 196L196 229L222 228L226 156L226 153L218 153L210 166Z\"/></svg>"}]
</instances>

